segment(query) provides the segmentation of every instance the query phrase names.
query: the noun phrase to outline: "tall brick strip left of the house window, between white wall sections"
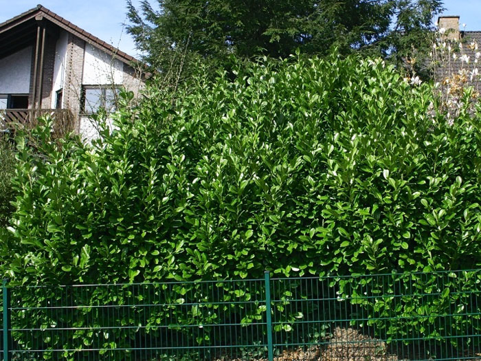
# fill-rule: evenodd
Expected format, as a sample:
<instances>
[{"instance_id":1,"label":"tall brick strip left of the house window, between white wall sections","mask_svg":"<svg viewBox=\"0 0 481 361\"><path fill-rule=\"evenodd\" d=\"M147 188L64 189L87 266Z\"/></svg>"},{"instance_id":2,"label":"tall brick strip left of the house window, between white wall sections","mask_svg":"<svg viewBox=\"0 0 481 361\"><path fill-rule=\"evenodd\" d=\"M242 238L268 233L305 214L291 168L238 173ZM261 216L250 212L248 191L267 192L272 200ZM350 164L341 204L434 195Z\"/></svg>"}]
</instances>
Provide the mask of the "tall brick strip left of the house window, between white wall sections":
<instances>
[{"instance_id":1,"label":"tall brick strip left of the house window, between white wall sections","mask_svg":"<svg viewBox=\"0 0 481 361\"><path fill-rule=\"evenodd\" d=\"M74 115L74 129L80 129L80 99L82 97L82 76L84 65L85 41L69 34L65 86L63 88L63 107Z\"/></svg>"}]
</instances>

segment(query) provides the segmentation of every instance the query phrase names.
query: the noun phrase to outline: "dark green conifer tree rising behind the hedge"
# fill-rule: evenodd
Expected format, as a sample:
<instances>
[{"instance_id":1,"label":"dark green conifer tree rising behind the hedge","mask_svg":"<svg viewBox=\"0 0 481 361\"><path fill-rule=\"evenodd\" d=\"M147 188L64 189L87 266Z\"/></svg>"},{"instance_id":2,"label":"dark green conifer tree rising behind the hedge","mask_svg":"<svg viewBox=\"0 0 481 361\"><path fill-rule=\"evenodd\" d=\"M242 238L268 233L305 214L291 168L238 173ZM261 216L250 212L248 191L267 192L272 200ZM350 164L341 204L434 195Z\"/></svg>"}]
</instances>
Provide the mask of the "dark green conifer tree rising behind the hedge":
<instances>
[{"instance_id":1,"label":"dark green conifer tree rising behind the hedge","mask_svg":"<svg viewBox=\"0 0 481 361\"><path fill-rule=\"evenodd\" d=\"M427 34L442 9L440 0L284 0L284 1L142 1L128 3L128 32L146 61L164 72L172 63L187 68L192 58L212 65L230 56L286 58L299 48L326 55L361 52L392 58L430 50Z\"/></svg>"}]
</instances>

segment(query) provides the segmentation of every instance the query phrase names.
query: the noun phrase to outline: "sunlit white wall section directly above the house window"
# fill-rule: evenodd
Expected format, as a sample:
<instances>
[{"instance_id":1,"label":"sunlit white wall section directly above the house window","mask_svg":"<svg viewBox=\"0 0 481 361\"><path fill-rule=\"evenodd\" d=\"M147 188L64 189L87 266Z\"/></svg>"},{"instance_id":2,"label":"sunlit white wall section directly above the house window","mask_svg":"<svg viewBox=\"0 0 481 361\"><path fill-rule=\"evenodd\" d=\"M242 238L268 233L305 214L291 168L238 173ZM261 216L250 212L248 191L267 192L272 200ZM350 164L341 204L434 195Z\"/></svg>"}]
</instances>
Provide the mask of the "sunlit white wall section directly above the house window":
<instances>
[{"instance_id":1,"label":"sunlit white wall section directly above the house window","mask_svg":"<svg viewBox=\"0 0 481 361\"><path fill-rule=\"evenodd\" d=\"M98 50L93 45L85 45L84 85L120 85L124 80L124 63L113 59L111 55Z\"/></svg>"}]
</instances>

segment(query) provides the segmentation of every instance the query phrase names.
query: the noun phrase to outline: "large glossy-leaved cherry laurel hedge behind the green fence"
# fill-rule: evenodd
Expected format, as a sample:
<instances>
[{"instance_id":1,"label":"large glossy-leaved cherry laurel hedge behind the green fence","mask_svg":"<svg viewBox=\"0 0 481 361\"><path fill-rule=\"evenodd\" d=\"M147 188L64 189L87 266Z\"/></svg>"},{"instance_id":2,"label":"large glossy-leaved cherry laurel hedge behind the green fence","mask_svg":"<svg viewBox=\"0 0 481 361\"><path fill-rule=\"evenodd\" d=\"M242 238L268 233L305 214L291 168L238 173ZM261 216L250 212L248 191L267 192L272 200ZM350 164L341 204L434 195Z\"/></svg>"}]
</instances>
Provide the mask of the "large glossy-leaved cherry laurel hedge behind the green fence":
<instances>
[{"instance_id":1,"label":"large glossy-leaved cherry laurel hedge behind the green fence","mask_svg":"<svg viewBox=\"0 0 481 361\"><path fill-rule=\"evenodd\" d=\"M481 118L461 109L451 124L432 86L381 60L333 55L199 76L175 101L155 87L146 94L92 144L59 146L48 127L35 134L40 152L19 140L19 195L0 257L12 283L481 266ZM354 294L343 282L339 292ZM426 313L454 307L426 302Z\"/></svg>"}]
</instances>

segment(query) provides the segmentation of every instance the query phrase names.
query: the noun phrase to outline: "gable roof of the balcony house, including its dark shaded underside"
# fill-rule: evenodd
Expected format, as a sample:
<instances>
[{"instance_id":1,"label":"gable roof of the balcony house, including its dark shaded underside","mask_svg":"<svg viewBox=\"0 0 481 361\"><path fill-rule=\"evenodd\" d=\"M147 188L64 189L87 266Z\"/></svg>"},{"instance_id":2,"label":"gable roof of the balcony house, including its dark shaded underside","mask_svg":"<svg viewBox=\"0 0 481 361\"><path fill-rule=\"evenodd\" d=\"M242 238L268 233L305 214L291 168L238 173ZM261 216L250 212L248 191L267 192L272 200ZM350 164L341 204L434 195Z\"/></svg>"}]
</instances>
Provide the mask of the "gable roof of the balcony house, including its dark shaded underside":
<instances>
[{"instance_id":1,"label":"gable roof of the balcony house, including its dark shaded underside","mask_svg":"<svg viewBox=\"0 0 481 361\"><path fill-rule=\"evenodd\" d=\"M78 26L72 24L70 21L67 21L63 17L58 16L41 5L0 23L0 58L4 52L10 52L11 54L13 46L21 47L27 45L30 41L33 41L36 32L36 22L43 19L47 19L47 21L50 21L63 30L78 36L78 38L83 41L104 50L107 54L118 58L124 63L137 63L137 59L133 56L130 56L125 52L118 50L118 48L113 45L98 39L97 36L93 36L91 33L78 28ZM5 37L5 39L2 39L3 37Z\"/></svg>"}]
</instances>

